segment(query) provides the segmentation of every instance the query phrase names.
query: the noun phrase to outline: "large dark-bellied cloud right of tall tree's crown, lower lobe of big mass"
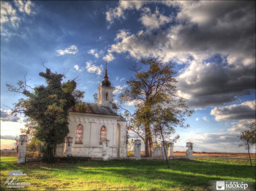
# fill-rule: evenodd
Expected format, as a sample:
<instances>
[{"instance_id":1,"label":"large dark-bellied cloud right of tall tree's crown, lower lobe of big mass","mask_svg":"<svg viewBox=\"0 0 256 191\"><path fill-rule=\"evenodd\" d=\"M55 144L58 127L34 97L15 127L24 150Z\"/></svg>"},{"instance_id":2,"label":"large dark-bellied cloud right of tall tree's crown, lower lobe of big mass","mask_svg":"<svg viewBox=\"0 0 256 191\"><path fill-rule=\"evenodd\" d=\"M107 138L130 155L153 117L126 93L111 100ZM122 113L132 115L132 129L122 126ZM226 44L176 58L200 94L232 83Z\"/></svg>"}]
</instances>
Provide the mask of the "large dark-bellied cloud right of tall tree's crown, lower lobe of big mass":
<instances>
[{"instance_id":1,"label":"large dark-bellied cloud right of tall tree's crown, lower lobe of big mass","mask_svg":"<svg viewBox=\"0 0 256 191\"><path fill-rule=\"evenodd\" d=\"M190 106L204 108L238 101L255 89L255 65L200 63L195 60L177 77L180 96Z\"/></svg>"}]
</instances>

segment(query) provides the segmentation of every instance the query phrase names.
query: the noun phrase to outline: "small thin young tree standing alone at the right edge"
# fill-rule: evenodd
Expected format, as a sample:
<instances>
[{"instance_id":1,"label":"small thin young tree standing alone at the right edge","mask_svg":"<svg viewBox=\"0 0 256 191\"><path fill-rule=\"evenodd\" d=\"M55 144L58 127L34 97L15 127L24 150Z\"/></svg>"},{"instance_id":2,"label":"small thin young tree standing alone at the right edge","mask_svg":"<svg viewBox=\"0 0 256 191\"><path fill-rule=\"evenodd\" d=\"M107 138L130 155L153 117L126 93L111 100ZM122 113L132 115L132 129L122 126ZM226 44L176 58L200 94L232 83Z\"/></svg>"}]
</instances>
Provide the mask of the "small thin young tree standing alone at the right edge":
<instances>
[{"instance_id":1,"label":"small thin young tree standing alone at the right edge","mask_svg":"<svg viewBox=\"0 0 256 191\"><path fill-rule=\"evenodd\" d=\"M246 150L248 150L251 166L252 166L252 159L250 155L250 149L252 149L255 146L256 142L256 134L255 134L255 123L252 123L249 127L250 130L242 132L241 135L238 137L242 140L242 144L239 144L238 147L244 147Z\"/></svg>"}]
</instances>

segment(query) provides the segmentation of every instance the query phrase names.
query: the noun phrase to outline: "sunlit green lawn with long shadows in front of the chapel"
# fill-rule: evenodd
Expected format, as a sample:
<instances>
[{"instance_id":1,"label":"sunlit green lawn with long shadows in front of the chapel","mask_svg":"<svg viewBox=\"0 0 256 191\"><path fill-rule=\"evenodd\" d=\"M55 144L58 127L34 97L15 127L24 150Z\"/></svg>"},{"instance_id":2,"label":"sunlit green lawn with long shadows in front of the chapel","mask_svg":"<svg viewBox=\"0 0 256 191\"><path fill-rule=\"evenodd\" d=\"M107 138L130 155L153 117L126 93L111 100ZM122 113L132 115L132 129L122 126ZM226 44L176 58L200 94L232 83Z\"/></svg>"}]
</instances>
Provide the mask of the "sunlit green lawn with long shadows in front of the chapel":
<instances>
[{"instance_id":1,"label":"sunlit green lawn with long shadows in front of the chapel","mask_svg":"<svg viewBox=\"0 0 256 191\"><path fill-rule=\"evenodd\" d=\"M16 162L15 157L1 157L1 190L15 190L4 185L13 170L27 174L18 182L37 185L16 190L208 190L211 180L247 180L256 188L255 161L251 167L246 160L170 160L170 169L164 160Z\"/></svg>"}]
</instances>

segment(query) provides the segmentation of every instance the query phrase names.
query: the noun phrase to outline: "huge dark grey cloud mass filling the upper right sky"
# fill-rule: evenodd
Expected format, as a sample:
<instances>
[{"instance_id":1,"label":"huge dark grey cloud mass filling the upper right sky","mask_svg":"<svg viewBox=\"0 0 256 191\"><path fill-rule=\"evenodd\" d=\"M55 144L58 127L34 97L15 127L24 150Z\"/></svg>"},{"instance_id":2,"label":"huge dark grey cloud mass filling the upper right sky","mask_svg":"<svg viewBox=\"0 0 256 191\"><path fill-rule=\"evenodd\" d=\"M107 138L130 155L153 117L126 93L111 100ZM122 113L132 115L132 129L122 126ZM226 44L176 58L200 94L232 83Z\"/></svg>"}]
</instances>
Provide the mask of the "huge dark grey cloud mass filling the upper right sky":
<instances>
[{"instance_id":1,"label":"huge dark grey cloud mass filling the upper right sky","mask_svg":"<svg viewBox=\"0 0 256 191\"><path fill-rule=\"evenodd\" d=\"M188 105L196 108L238 101L237 95L255 90L255 2L166 2L177 8L175 22L165 25L170 22L165 15L165 27L157 32L120 30L108 49L111 60L114 53L125 53L136 59L156 57L161 62L187 64L177 86ZM142 24L150 28L150 21L161 23L157 9L151 13L146 7L151 3L155 2L120 1L106 13L107 20L124 18L125 10L135 9L141 11Z\"/></svg>"}]
</instances>

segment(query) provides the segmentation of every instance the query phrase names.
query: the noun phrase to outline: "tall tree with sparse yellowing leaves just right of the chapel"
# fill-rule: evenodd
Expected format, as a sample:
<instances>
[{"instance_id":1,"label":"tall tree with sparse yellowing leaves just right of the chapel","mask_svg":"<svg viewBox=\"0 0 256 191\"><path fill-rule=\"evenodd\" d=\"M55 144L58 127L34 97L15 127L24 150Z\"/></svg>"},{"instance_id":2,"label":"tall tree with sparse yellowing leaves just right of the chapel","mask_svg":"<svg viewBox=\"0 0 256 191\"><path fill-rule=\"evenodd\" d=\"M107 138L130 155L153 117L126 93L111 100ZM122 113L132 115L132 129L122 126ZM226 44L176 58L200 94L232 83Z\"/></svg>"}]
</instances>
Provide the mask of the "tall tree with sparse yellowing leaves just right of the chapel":
<instances>
[{"instance_id":1,"label":"tall tree with sparse yellowing leaves just right of the chapel","mask_svg":"<svg viewBox=\"0 0 256 191\"><path fill-rule=\"evenodd\" d=\"M175 76L178 74L173 71L175 67L172 62L168 64L157 62L156 59L147 58L141 60L143 65L149 67L148 71L141 71L141 67L135 65L131 68L135 72L134 77L127 81L128 88L124 89L119 98L121 102L136 101L135 112L130 114L125 112L128 119L128 128L134 131L142 138L145 143L145 154L150 156L148 146L153 145L152 134L154 134L155 108L156 105L170 104L174 98L178 98L175 84ZM185 106L183 99L177 100L180 106ZM186 110L187 107L184 109ZM193 113L193 111L186 110ZM185 117L185 116L184 116ZM171 120L170 120L171 121ZM151 151L151 150L150 150Z\"/></svg>"}]
</instances>

